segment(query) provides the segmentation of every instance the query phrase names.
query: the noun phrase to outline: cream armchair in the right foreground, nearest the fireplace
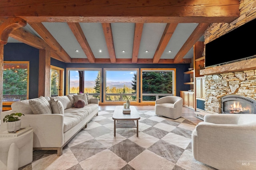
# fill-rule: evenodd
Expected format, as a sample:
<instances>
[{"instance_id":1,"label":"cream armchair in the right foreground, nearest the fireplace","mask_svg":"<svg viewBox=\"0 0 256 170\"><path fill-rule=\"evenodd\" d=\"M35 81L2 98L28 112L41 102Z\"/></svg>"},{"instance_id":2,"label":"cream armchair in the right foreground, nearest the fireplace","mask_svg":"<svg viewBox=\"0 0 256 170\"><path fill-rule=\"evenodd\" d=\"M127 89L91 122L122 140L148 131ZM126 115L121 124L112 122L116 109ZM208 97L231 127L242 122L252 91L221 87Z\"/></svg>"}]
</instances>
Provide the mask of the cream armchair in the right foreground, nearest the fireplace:
<instances>
[{"instance_id":1,"label":"cream armchair in the right foreground, nearest the fireplace","mask_svg":"<svg viewBox=\"0 0 256 170\"><path fill-rule=\"evenodd\" d=\"M256 169L256 114L208 114L192 132L196 160L218 170Z\"/></svg>"}]
</instances>

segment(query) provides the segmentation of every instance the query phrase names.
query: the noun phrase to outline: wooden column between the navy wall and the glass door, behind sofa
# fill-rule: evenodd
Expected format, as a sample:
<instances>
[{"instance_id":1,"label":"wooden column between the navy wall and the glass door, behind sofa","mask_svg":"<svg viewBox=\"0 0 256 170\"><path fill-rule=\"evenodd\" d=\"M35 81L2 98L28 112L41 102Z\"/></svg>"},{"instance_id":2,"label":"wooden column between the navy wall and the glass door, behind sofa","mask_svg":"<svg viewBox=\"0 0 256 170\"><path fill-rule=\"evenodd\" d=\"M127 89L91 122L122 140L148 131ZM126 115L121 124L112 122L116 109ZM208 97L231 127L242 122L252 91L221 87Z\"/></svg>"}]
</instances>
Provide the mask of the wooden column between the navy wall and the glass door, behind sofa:
<instances>
[{"instance_id":1,"label":"wooden column between the navy wall and the glass door, behind sofa","mask_svg":"<svg viewBox=\"0 0 256 170\"><path fill-rule=\"evenodd\" d=\"M39 50L38 97L50 97L51 57L49 50Z\"/></svg>"}]
</instances>

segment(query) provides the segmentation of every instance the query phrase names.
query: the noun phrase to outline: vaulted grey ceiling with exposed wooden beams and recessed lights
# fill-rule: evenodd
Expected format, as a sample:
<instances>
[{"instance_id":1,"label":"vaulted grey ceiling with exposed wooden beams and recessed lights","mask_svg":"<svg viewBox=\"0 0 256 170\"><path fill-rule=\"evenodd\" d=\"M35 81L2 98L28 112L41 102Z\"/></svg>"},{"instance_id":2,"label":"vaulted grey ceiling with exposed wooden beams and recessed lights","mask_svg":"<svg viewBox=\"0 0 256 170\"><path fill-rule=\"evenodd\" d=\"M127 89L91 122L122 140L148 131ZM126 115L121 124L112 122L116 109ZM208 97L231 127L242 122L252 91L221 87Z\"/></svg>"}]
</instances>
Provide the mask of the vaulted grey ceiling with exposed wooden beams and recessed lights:
<instances>
[{"instance_id":1,"label":"vaulted grey ceiling with exposed wooden beams and recessed lights","mask_svg":"<svg viewBox=\"0 0 256 170\"><path fill-rule=\"evenodd\" d=\"M18 28L10 37L38 49L50 49L52 58L66 63L190 63L188 54L210 23L230 23L238 18L239 3L1 0L0 24L10 17L22 18L38 35ZM185 32L180 33L181 30ZM83 53L75 53L72 47ZM106 50L98 53L99 48ZM121 48L128 49L126 54ZM167 54L170 49L172 54ZM144 53L146 50L149 53Z\"/></svg>"}]
</instances>

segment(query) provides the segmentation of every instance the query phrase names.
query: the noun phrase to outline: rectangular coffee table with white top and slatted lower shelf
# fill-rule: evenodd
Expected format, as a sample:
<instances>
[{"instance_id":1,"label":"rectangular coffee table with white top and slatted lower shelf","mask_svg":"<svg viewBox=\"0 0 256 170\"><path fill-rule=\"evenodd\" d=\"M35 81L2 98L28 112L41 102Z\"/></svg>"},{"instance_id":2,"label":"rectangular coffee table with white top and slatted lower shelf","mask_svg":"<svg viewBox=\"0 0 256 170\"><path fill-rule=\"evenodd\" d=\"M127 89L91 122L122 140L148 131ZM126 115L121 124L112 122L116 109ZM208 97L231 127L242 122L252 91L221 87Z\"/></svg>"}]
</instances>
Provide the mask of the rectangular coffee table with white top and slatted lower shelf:
<instances>
[{"instance_id":1,"label":"rectangular coffee table with white top and slatted lower shelf","mask_svg":"<svg viewBox=\"0 0 256 170\"><path fill-rule=\"evenodd\" d=\"M139 136L139 119L140 115L134 106L130 106L131 113L123 113L124 106L116 106L112 119L114 119L114 136L116 128L137 128L137 137Z\"/></svg>"}]
</instances>

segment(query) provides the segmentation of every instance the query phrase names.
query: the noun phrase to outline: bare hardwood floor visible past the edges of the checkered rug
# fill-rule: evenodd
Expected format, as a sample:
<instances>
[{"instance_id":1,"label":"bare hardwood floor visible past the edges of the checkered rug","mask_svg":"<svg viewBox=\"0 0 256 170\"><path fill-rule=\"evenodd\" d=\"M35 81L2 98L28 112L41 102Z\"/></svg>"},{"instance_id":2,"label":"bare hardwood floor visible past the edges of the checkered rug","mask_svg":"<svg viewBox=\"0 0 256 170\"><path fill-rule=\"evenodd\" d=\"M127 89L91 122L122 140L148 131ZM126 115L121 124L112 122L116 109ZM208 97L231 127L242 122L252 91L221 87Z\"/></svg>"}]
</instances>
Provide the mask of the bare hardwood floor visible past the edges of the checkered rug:
<instances>
[{"instance_id":1,"label":"bare hardwood floor visible past the edges of the checkered rug","mask_svg":"<svg viewBox=\"0 0 256 170\"><path fill-rule=\"evenodd\" d=\"M99 110L114 110L117 105L100 105ZM146 106L141 106L141 105L134 105L134 107L137 110L154 110L155 106L154 105L146 105ZM182 117L185 117L186 119L198 124L199 122L202 122L201 119L198 119L194 113L194 109L190 109L187 107L182 108Z\"/></svg>"}]
</instances>

